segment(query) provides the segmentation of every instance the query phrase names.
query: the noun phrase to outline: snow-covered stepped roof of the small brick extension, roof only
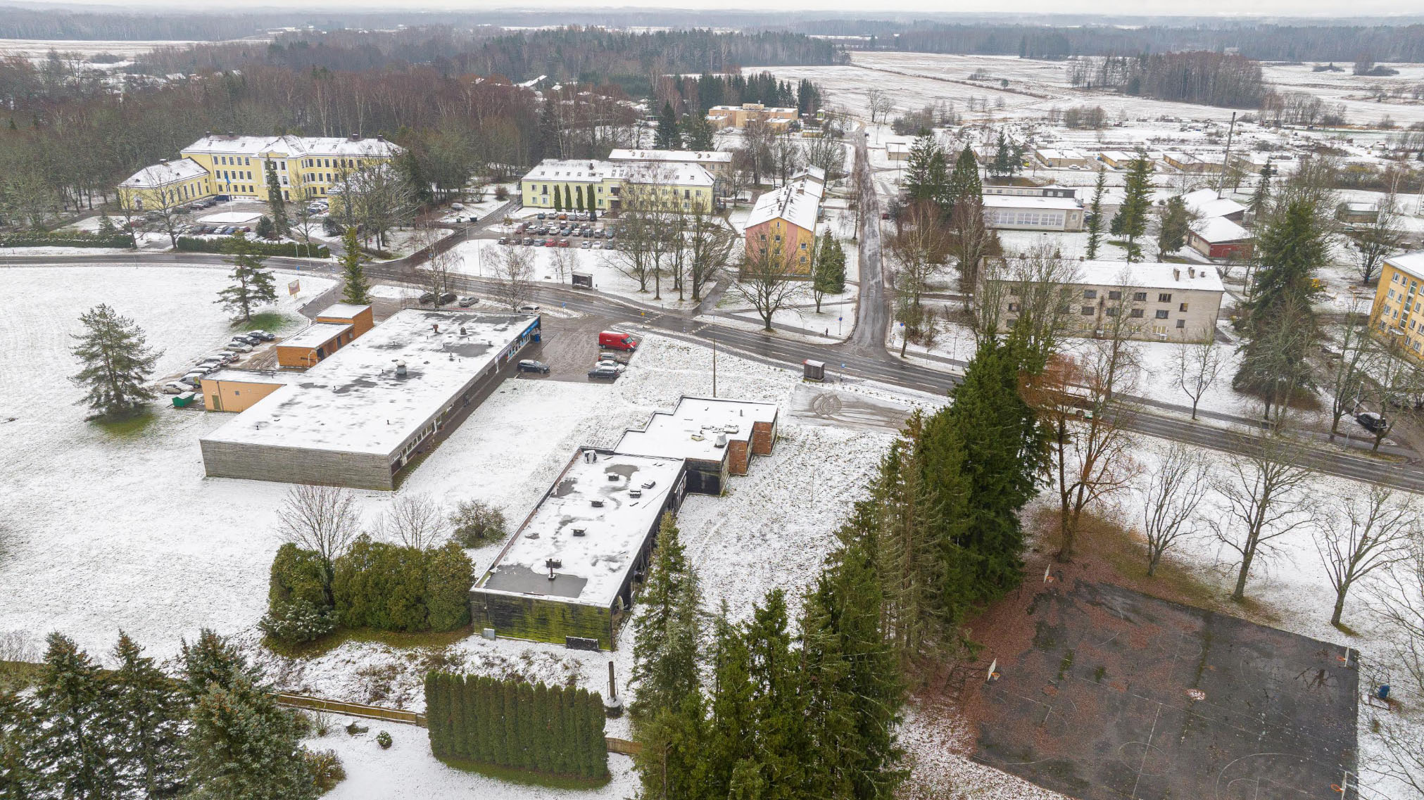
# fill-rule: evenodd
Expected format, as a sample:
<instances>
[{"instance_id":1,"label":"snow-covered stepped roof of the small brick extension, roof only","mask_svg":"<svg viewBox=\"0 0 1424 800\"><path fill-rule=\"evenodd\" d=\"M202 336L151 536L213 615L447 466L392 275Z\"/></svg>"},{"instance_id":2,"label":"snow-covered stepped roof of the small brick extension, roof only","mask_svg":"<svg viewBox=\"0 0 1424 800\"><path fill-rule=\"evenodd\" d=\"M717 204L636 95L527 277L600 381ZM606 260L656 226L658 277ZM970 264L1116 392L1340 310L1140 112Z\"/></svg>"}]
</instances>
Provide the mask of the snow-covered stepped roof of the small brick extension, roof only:
<instances>
[{"instance_id":1,"label":"snow-covered stepped roof of the small brick extension, roof only","mask_svg":"<svg viewBox=\"0 0 1424 800\"><path fill-rule=\"evenodd\" d=\"M656 411L642 430L628 430L618 453L638 456L669 456L722 461L726 441L752 440L752 424L776 420L775 403L748 403L711 397L684 397L672 411ZM726 437L719 446L718 441Z\"/></svg>"}]
</instances>

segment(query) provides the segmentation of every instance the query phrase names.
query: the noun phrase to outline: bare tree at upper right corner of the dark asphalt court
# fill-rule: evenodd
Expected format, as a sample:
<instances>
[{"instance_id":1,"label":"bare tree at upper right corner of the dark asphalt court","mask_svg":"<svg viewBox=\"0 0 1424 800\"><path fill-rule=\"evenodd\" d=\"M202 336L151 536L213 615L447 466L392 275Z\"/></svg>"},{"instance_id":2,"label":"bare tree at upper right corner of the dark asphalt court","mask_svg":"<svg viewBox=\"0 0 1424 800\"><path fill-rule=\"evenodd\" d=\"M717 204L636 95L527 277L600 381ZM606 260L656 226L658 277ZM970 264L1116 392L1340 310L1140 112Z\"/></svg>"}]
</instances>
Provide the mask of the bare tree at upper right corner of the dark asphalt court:
<instances>
[{"instance_id":1,"label":"bare tree at upper right corner of the dark asphalt court","mask_svg":"<svg viewBox=\"0 0 1424 800\"><path fill-rule=\"evenodd\" d=\"M1336 591L1330 623L1340 625L1344 598L1354 584L1376 569L1404 561L1418 540L1418 508L1413 498L1396 498L1381 485L1361 494L1321 498L1312 532L1326 577Z\"/></svg>"}]
</instances>

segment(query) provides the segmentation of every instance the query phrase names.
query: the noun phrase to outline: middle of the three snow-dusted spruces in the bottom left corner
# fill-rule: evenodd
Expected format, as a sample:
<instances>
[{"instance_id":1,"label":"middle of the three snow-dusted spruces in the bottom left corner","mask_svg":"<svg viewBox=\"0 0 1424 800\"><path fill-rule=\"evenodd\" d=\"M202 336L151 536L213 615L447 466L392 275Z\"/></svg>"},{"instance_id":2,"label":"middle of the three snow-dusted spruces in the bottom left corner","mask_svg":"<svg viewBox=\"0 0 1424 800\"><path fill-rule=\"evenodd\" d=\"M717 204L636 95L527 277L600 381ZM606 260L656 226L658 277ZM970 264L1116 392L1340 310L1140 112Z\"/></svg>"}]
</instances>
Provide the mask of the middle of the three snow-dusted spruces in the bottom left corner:
<instances>
[{"instance_id":1,"label":"middle of the three snow-dusted spruces in the bottom left corner","mask_svg":"<svg viewBox=\"0 0 1424 800\"><path fill-rule=\"evenodd\" d=\"M117 727L111 743L125 764L124 784L130 793L147 799L175 797L185 787L188 769L187 698L124 632L114 645L114 660L118 662L111 675Z\"/></svg>"}]
</instances>

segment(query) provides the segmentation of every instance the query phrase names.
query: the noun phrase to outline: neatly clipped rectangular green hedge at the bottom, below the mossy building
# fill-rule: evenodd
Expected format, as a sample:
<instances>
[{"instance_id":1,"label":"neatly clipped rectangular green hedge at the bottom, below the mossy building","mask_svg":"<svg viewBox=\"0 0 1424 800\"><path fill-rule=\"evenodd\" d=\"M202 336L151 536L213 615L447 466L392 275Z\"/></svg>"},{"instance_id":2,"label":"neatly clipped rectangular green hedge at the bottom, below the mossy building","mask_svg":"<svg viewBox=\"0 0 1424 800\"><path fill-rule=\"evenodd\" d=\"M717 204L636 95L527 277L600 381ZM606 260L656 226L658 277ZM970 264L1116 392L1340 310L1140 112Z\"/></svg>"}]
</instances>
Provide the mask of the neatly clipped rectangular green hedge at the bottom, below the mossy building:
<instances>
[{"instance_id":1,"label":"neatly clipped rectangular green hedge at the bottom, below the mossy building","mask_svg":"<svg viewBox=\"0 0 1424 800\"><path fill-rule=\"evenodd\" d=\"M488 676L426 675L437 759L600 780L608 776L604 700L587 689Z\"/></svg>"}]
</instances>

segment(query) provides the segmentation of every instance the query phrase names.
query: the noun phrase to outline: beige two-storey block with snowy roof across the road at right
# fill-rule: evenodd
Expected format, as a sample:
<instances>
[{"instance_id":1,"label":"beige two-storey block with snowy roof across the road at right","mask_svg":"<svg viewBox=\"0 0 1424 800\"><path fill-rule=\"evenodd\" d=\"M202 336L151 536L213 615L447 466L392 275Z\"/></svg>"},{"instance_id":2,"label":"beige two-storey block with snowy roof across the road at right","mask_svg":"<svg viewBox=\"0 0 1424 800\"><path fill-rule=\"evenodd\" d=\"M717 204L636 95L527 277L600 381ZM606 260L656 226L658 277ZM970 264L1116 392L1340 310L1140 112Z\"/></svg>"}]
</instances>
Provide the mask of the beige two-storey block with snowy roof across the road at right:
<instances>
[{"instance_id":1,"label":"beige two-storey block with snowy roof across the road at right","mask_svg":"<svg viewBox=\"0 0 1424 800\"><path fill-rule=\"evenodd\" d=\"M1126 312L1129 337L1200 342L1216 329L1226 288L1215 266L1185 263L1069 262L1072 280L1062 283L1067 323L1078 336L1111 329L1111 316ZM1018 296L1005 292L1000 327L1018 317Z\"/></svg>"}]
</instances>

